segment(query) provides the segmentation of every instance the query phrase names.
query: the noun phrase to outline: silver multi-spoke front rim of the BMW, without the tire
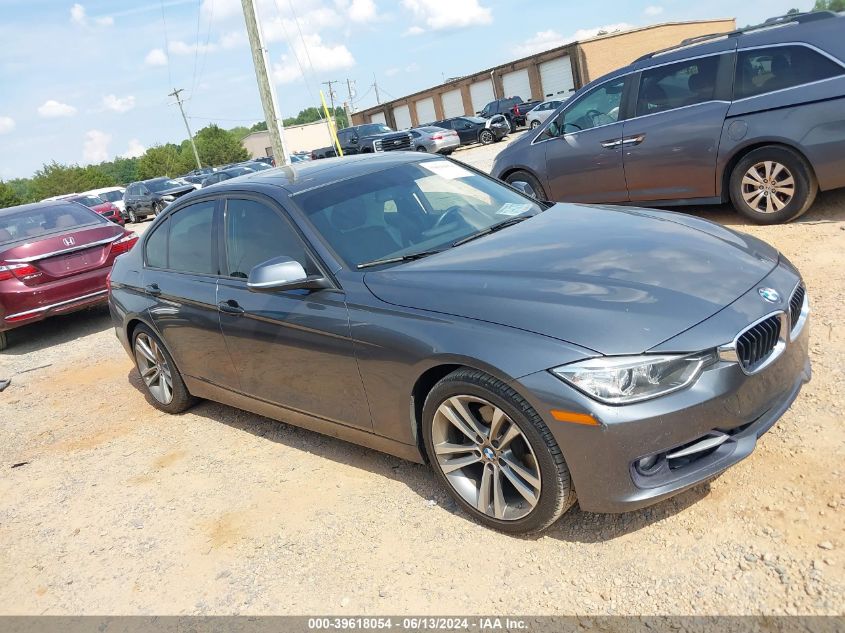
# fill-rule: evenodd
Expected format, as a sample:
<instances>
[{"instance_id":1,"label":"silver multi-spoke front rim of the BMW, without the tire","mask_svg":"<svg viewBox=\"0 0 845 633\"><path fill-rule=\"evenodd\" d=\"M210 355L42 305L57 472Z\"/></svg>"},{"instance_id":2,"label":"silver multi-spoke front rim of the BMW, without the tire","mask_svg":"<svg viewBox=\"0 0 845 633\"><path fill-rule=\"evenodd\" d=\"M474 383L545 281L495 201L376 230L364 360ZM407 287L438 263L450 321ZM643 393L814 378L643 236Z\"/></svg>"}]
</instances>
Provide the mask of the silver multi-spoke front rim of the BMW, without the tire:
<instances>
[{"instance_id":1,"label":"silver multi-spoke front rim of the BMW, without the tire","mask_svg":"<svg viewBox=\"0 0 845 633\"><path fill-rule=\"evenodd\" d=\"M431 433L437 466L479 512L514 521L537 505L537 456L502 409L477 396L452 396L437 408Z\"/></svg>"}]
</instances>

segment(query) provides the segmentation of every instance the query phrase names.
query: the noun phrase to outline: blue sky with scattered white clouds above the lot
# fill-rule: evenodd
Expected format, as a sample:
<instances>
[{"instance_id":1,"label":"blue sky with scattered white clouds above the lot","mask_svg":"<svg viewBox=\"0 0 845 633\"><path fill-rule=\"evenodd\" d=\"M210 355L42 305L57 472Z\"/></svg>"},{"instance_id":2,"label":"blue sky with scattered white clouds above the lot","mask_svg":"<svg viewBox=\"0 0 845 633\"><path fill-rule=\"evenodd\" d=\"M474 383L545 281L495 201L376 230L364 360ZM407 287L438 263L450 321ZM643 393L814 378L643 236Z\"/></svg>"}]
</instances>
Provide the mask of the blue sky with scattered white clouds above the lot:
<instances>
[{"instance_id":1,"label":"blue sky with scattered white clouds above the lot","mask_svg":"<svg viewBox=\"0 0 845 633\"><path fill-rule=\"evenodd\" d=\"M321 82L355 82L356 106L586 37L599 28L736 17L811 0L259 0L284 116ZM529 11L530 9L530 11ZM0 0L0 179L87 164L263 119L240 0ZM304 69L305 75L302 74Z\"/></svg>"}]
</instances>

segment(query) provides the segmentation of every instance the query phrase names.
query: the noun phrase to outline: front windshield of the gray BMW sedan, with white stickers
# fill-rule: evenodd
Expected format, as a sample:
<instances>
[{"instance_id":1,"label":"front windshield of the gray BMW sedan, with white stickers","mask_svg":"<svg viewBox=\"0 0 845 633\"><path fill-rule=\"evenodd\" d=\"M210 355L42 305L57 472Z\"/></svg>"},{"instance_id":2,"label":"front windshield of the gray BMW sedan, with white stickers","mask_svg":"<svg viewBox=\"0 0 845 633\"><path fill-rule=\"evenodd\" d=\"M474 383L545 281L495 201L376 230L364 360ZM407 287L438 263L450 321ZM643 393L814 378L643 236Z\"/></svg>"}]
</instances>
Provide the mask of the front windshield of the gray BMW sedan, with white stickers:
<instances>
[{"instance_id":1,"label":"front windshield of the gray BMW sedan, with white stickers","mask_svg":"<svg viewBox=\"0 0 845 633\"><path fill-rule=\"evenodd\" d=\"M492 178L437 159L350 178L294 200L350 268L447 248L542 211Z\"/></svg>"}]
</instances>

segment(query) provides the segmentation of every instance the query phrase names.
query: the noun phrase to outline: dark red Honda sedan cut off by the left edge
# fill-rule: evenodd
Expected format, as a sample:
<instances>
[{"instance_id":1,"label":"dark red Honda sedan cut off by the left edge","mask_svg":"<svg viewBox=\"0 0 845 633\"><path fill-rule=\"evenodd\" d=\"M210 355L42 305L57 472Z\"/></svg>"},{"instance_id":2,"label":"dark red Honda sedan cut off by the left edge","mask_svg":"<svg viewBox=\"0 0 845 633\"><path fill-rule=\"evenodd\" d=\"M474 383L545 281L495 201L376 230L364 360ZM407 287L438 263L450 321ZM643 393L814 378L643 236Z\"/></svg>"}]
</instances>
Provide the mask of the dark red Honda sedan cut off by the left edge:
<instances>
[{"instance_id":1,"label":"dark red Honda sedan cut off by the left edge","mask_svg":"<svg viewBox=\"0 0 845 633\"><path fill-rule=\"evenodd\" d=\"M0 349L8 330L105 303L115 257L137 241L76 202L0 209Z\"/></svg>"}]
</instances>

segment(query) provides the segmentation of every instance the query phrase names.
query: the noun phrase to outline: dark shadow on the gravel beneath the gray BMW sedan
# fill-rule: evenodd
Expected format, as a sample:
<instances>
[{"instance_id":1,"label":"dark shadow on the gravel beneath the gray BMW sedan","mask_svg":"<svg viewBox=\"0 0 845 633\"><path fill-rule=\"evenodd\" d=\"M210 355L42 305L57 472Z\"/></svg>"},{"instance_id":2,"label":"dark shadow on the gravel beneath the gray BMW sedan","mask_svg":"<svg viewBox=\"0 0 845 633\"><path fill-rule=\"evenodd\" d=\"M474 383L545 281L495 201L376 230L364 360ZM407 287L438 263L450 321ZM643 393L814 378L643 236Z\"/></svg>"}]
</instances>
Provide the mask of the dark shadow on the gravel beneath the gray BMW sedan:
<instances>
[{"instance_id":1,"label":"dark shadow on the gravel beneath the gray BMW sedan","mask_svg":"<svg viewBox=\"0 0 845 633\"><path fill-rule=\"evenodd\" d=\"M138 372L129 373L129 382L149 400ZM150 405L152 406L152 405ZM475 524L440 486L426 465L416 464L399 457L351 444L328 435L309 431L291 424L229 407L217 402L201 401L187 413L210 422L225 424L251 433L270 442L330 459L344 466L365 470L379 477L386 477L404 484L422 498L422 503L437 505L441 509ZM556 538L573 543L598 543L611 541L668 519L694 505L710 492L709 482L704 482L657 505L624 514L594 514L582 511L578 505L540 534L516 536L524 540ZM484 529L479 526L479 529Z\"/></svg>"}]
</instances>

